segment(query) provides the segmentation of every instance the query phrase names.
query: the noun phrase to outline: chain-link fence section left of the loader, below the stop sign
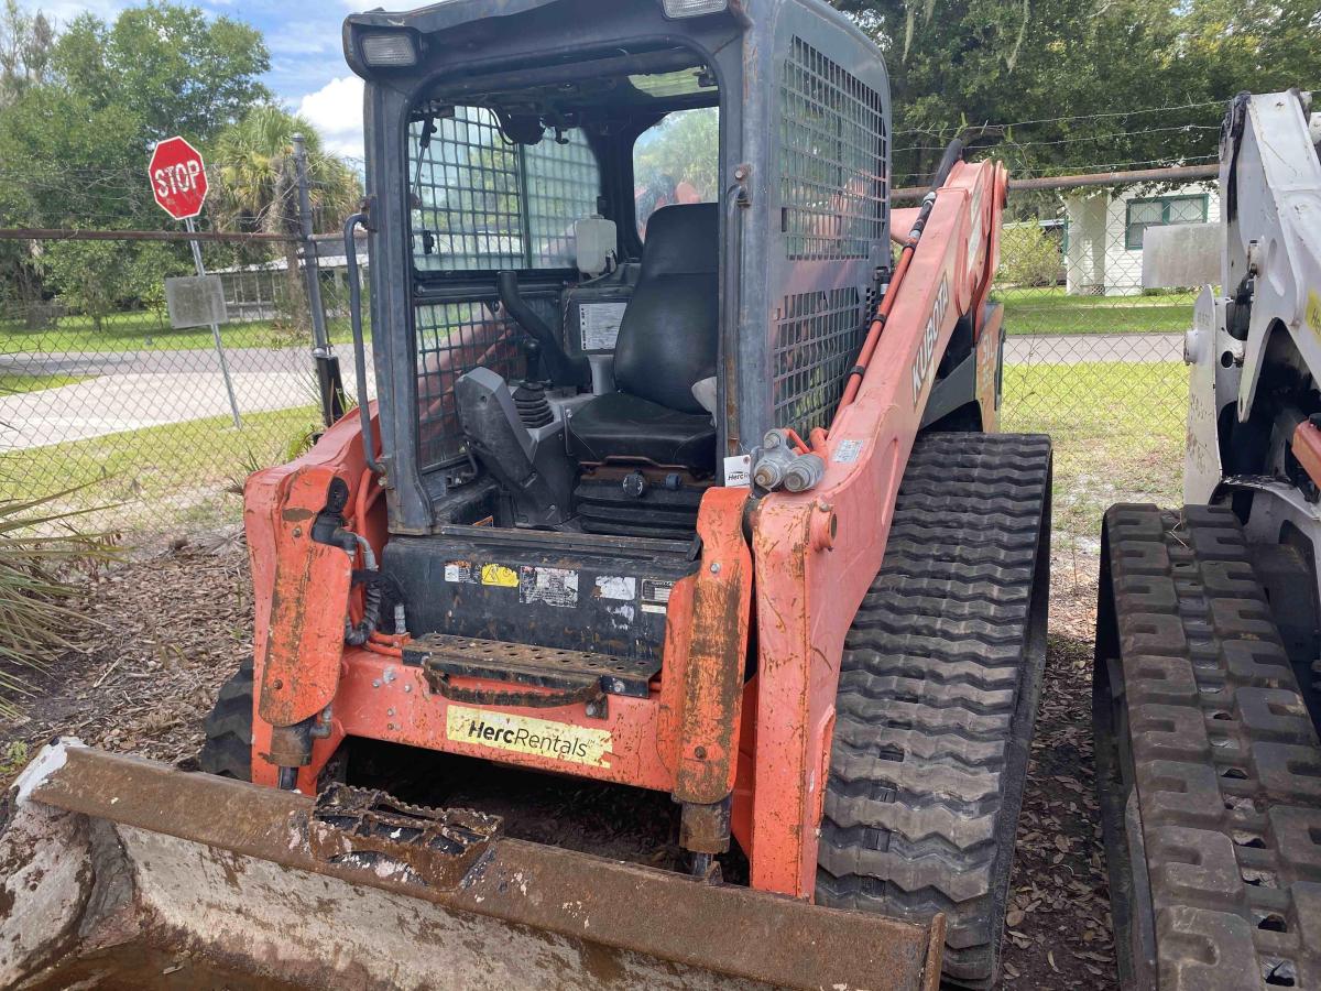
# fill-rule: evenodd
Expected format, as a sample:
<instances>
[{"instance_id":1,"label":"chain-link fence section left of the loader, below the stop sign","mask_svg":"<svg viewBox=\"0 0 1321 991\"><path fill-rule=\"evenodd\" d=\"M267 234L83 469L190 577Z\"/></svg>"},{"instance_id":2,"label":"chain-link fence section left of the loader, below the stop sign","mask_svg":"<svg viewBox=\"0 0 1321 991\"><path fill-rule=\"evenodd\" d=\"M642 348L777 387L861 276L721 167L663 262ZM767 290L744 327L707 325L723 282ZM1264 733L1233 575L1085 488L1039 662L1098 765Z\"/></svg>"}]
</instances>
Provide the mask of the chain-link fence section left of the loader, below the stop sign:
<instances>
[{"instance_id":1,"label":"chain-link fence section left of the loader, below the stop sign","mask_svg":"<svg viewBox=\"0 0 1321 991\"><path fill-rule=\"evenodd\" d=\"M288 252L201 244L226 296L218 336L170 325L161 274L190 274L188 243L15 244L36 255L85 248L92 279L144 260L153 271L127 304L95 284L53 299L0 287L0 499L65 493L61 507L112 503L127 530L232 521L243 478L296 455L318 428L305 274L292 243ZM336 317L339 272L328 268L321 283ZM349 340L346 324L329 321L334 340Z\"/></svg>"}]
</instances>

